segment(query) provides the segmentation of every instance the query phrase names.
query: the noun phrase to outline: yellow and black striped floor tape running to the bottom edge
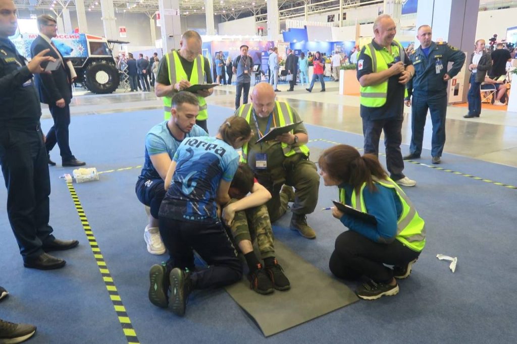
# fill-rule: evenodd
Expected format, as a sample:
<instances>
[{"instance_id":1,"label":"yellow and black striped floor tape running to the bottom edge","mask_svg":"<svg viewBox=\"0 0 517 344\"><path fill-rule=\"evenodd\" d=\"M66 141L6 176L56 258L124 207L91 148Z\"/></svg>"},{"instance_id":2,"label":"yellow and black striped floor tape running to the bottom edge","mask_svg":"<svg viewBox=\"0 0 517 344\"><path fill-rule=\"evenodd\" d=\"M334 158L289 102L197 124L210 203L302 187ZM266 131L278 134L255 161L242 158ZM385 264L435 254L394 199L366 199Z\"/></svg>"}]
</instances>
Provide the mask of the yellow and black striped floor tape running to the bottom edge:
<instances>
[{"instance_id":1,"label":"yellow and black striped floor tape running to the bottom edge","mask_svg":"<svg viewBox=\"0 0 517 344\"><path fill-rule=\"evenodd\" d=\"M104 257L99 248L99 244L95 239L94 233L92 231L92 227L88 223L88 219L86 218L86 214L84 213L83 206L79 201L79 197L75 192L75 189L72 183L67 183L68 191L72 196L73 204L79 218L81 220L81 224L83 225L84 233L86 234L86 238L88 239L88 243L90 244L90 248L92 248L92 252L94 254L95 260L97 261L97 265L99 267L99 271L102 275L102 279L104 280L104 284L106 285L106 289L110 294L111 302L113 302L113 307L115 308L115 312L118 316L118 321L122 326L122 330L124 331L124 335L128 341L128 344L138 344L140 341L136 337L136 332L133 329L133 325L131 324L131 320L128 317L126 312L126 307L122 303L120 299L120 295L118 294L117 287L115 287L115 283L113 282L113 277L111 277L110 270L108 270L108 265L104 261Z\"/></svg>"}]
</instances>

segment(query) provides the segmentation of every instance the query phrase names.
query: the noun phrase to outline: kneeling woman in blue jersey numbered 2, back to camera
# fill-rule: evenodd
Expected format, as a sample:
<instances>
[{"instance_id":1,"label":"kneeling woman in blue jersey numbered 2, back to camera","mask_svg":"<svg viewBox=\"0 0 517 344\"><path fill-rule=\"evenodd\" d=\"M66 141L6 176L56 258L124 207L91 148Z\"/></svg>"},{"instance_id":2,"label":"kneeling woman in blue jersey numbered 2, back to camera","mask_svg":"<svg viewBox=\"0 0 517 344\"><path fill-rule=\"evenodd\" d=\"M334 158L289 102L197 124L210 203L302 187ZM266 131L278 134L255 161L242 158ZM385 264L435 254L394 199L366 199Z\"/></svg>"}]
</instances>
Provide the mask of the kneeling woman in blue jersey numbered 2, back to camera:
<instances>
[{"instance_id":1,"label":"kneeling woman in blue jersey numbered 2, back to camera","mask_svg":"<svg viewBox=\"0 0 517 344\"><path fill-rule=\"evenodd\" d=\"M170 260L167 267L154 265L149 272L151 303L170 304L183 316L192 289L221 287L242 277L242 264L219 220L217 204L230 201L228 191L239 163L236 149L251 135L248 122L232 116L215 137L188 137L176 150L159 211L160 234ZM194 272L193 250L208 268Z\"/></svg>"}]
</instances>

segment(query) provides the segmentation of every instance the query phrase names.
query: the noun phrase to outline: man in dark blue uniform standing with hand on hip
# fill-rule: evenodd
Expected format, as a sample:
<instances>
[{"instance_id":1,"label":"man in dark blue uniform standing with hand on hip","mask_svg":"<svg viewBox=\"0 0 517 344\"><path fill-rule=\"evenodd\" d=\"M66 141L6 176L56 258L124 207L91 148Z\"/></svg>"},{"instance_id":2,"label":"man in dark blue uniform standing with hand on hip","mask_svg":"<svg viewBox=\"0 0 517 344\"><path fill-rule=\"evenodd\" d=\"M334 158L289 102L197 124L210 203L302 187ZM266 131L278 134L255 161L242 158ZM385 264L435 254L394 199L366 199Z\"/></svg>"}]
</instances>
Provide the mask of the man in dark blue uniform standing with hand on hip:
<instances>
[{"instance_id":1,"label":"man in dark blue uniform standing with hand on hip","mask_svg":"<svg viewBox=\"0 0 517 344\"><path fill-rule=\"evenodd\" d=\"M408 96L405 99L411 109L411 144L409 154L404 160L419 159L422 152L423 130L427 111L431 111L433 136L431 140L432 163L441 162L445 145L445 115L447 113L447 81L460 71L465 62L465 54L445 42L431 40L432 29L429 25L418 28L418 49L409 58L415 67L415 76L407 84ZM453 62L447 71L447 65ZM410 100L413 95L413 100Z\"/></svg>"}]
</instances>

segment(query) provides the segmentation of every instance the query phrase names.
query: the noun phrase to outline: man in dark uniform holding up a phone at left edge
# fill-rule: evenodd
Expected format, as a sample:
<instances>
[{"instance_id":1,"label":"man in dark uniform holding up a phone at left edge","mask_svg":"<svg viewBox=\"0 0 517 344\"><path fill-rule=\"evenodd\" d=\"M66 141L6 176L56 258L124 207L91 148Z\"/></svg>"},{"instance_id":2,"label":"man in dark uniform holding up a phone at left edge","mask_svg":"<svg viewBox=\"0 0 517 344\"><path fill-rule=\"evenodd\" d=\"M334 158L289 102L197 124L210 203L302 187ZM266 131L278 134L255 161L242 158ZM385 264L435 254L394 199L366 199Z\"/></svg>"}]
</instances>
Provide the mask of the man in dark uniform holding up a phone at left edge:
<instances>
[{"instance_id":1,"label":"man in dark uniform holding up a phone at left edge","mask_svg":"<svg viewBox=\"0 0 517 344\"><path fill-rule=\"evenodd\" d=\"M27 64L8 39L17 28L16 6L0 0L0 165L7 187L7 214L26 268L62 268L65 260L47 252L69 249L77 240L54 238L49 226L50 178L40 128L41 106L33 74L54 60L49 49Z\"/></svg>"}]
</instances>

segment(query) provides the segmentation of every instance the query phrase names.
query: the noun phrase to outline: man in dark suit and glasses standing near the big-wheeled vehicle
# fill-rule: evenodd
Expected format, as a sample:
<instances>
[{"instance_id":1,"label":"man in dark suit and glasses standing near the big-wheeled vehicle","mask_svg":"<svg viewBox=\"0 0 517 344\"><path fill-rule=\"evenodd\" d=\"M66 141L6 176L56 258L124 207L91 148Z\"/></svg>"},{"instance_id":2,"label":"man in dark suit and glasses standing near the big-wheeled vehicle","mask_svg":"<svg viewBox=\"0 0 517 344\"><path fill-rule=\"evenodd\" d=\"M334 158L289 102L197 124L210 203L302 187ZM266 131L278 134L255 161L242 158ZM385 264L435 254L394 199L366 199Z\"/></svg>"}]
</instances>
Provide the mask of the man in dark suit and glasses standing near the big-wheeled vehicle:
<instances>
[{"instance_id":1,"label":"man in dark suit and glasses standing near the big-wheeled vehicle","mask_svg":"<svg viewBox=\"0 0 517 344\"><path fill-rule=\"evenodd\" d=\"M48 56L59 60L60 66L52 73L41 73L34 76L36 87L39 91L40 101L49 105L50 113L54 119L54 125L47 133L47 148L49 165L55 166L50 160L50 151L57 143L61 154L62 165L83 166L86 163L75 159L68 143L68 126L70 125L70 101L72 99L72 77L69 65L57 50L52 38L57 36L56 20L48 14L40 15L37 19L39 36L31 45L32 57L45 49L49 49ZM71 66L71 64L70 64ZM73 67L72 67L73 68Z\"/></svg>"}]
</instances>

